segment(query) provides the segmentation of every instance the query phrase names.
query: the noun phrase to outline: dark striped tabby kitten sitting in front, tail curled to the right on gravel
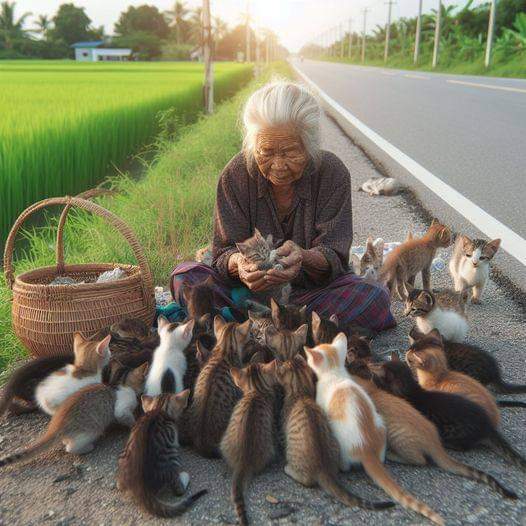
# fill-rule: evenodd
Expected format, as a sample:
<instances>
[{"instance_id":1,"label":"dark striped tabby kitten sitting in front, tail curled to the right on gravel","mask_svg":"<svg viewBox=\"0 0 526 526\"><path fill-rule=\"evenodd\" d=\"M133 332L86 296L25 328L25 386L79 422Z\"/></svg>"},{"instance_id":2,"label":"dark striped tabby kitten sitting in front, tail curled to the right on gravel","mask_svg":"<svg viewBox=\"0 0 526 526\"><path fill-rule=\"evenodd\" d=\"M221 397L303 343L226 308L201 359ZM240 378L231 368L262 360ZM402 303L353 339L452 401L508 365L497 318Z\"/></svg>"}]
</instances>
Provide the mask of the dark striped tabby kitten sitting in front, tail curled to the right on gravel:
<instances>
[{"instance_id":1,"label":"dark striped tabby kitten sitting in front, tail curled to the right on gravel","mask_svg":"<svg viewBox=\"0 0 526 526\"><path fill-rule=\"evenodd\" d=\"M181 470L177 422L188 403L189 390L178 394L142 396L144 415L133 427L119 457L117 486L129 493L147 512L158 517L176 517L207 493L201 490L178 504L160 496L182 496L190 476Z\"/></svg>"}]
</instances>

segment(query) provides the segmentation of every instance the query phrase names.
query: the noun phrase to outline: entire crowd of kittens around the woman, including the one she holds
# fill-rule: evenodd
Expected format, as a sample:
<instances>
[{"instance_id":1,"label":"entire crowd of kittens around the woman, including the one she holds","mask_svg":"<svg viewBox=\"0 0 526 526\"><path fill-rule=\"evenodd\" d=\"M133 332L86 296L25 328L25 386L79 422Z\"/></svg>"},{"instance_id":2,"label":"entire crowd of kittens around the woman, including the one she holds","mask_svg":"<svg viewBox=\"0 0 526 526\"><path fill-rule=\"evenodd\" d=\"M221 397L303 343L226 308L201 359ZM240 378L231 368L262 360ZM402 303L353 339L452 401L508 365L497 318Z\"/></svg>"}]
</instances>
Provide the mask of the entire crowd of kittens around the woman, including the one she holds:
<instances>
[{"instance_id":1,"label":"entire crowd of kittens around the woman, including the one she holds","mask_svg":"<svg viewBox=\"0 0 526 526\"><path fill-rule=\"evenodd\" d=\"M254 237L239 248L251 261L253 254L265 261L268 252L261 245L267 240L259 233ZM76 334L71 356L38 358L16 370L3 391L0 415L39 408L52 418L40 439L0 459L0 467L59 444L70 453L87 453L119 423L131 432L118 461L118 488L162 517L181 514L206 494L202 489L187 495L190 476L180 444L226 461L242 525L249 523L243 496L248 482L274 462L303 486L320 486L345 506L394 506L348 489L340 471L361 466L393 501L435 524L444 524L442 516L398 484L385 458L433 463L516 499L494 477L445 449L485 444L526 470L526 460L498 428L499 406L526 404L497 403L485 387L524 393L526 385L505 382L491 354L463 342L466 292L470 287L472 302L480 301L499 242L459 236L450 265L457 291L435 292L430 264L451 237L435 221L385 261L380 243L369 240L360 261L365 279L399 294L416 320L405 361L396 353L378 361L367 329L342 327L334 315L308 314L306 306L280 304L274 297L270 306L254 298L246 321L226 322L216 311L208 278L184 290L184 322L160 317L157 333L151 333L139 320L124 320L107 334ZM423 289L414 288L417 273ZM174 503L174 496L183 498Z\"/></svg>"}]
</instances>

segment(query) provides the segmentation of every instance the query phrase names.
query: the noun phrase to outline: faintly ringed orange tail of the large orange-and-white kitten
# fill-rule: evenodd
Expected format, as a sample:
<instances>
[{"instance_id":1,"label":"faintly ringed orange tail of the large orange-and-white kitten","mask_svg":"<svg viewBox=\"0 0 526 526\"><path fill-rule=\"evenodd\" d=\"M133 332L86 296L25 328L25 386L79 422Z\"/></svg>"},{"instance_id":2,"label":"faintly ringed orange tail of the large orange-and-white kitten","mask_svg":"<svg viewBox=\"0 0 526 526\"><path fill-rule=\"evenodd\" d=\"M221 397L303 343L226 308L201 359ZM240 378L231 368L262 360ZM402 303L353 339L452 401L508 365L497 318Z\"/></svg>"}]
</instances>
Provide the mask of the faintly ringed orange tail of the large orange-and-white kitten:
<instances>
[{"instance_id":1,"label":"faintly ringed orange tail of the large orange-and-white kitten","mask_svg":"<svg viewBox=\"0 0 526 526\"><path fill-rule=\"evenodd\" d=\"M390 497L400 503L404 508L416 511L427 517L430 521L443 526L444 519L427 504L419 501L410 493L402 489L386 470L380 459L373 453L366 453L362 458L362 465L369 477L380 486Z\"/></svg>"}]
</instances>

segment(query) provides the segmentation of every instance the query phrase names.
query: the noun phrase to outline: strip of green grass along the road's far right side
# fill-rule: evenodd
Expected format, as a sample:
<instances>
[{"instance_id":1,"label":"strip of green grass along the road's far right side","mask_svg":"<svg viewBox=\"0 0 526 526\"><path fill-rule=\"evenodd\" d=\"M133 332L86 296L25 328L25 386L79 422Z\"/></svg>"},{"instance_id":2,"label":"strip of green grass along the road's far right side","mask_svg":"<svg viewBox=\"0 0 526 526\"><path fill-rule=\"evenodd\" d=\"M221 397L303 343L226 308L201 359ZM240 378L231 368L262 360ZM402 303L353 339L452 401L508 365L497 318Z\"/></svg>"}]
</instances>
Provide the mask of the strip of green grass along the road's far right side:
<instances>
[{"instance_id":1,"label":"strip of green grass along the road's far right side","mask_svg":"<svg viewBox=\"0 0 526 526\"><path fill-rule=\"evenodd\" d=\"M358 50L356 50L358 53ZM320 60L327 60L331 62L343 62L348 64L378 66L396 69L409 69L419 71L434 71L436 73L452 73L456 75L483 75L488 77L511 77L511 78L526 78L526 53L517 53L507 60L499 60L498 57L493 61L492 65L486 69L484 66L484 58L478 57L472 61L458 60L455 58L444 58L436 68L431 65L431 56L423 55L420 65L415 66L411 57L394 55L389 58L387 64L384 63L383 58L371 59L366 58L365 64L362 64L358 56L349 60L348 58L340 59L334 57L323 57Z\"/></svg>"}]
</instances>

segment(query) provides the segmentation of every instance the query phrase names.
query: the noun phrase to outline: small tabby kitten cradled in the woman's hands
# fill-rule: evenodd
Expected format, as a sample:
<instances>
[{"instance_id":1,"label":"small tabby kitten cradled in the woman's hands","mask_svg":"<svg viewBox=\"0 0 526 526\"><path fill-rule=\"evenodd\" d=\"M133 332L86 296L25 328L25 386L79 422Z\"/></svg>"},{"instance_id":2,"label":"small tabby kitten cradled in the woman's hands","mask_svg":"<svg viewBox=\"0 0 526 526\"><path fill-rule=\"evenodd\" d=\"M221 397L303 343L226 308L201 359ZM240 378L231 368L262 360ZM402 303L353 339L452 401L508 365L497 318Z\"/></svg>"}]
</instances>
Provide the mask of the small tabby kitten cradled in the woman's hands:
<instances>
[{"instance_id":1,"label":"small tabby kitten cradled in the woman's hands","mask_svg":"<svg viewBox=\"0 0 526 526\"><path fill-rule=\"evenodd\" d=\"M273 246L272 235L269 234L265 239L257 228L254 230L252 237L249 237L242 243L236 243L236 247L243 255L245 262L256 265L258 270L269 270L271 268L282 270L283 266L279 263L279 258ZM268 304L270 298L287 304L290 292L290 283L284 283L255 293L255 296L265 304Z\"/></svg>"}]
</instances>

